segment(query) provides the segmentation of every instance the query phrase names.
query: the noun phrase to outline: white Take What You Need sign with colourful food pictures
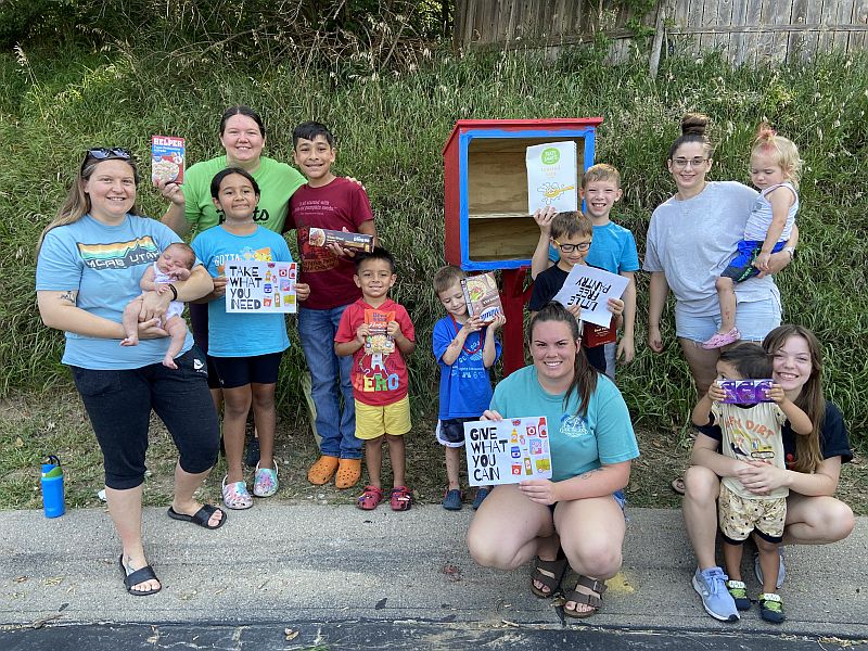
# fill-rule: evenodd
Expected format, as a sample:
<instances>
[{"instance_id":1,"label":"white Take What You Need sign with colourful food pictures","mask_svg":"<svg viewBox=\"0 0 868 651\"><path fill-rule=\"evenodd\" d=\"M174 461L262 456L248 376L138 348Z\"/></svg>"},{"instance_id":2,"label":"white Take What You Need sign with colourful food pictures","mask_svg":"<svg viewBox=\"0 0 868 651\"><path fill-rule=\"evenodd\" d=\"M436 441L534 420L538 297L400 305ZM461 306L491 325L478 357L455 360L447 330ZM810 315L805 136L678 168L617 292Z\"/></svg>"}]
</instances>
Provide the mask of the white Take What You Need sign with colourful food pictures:
<instances>
[{"instance_id":1,"label":"white Take What You Need sign with colourful food pictures","mask_svg":"<svg viewBox=\"0 0 868 651\"><path fill-rule=\"evenodd\" d=\"M226 311L247 314L295 312L295 263L230 260L226 273Z\"/></svg>"}]
</instances>

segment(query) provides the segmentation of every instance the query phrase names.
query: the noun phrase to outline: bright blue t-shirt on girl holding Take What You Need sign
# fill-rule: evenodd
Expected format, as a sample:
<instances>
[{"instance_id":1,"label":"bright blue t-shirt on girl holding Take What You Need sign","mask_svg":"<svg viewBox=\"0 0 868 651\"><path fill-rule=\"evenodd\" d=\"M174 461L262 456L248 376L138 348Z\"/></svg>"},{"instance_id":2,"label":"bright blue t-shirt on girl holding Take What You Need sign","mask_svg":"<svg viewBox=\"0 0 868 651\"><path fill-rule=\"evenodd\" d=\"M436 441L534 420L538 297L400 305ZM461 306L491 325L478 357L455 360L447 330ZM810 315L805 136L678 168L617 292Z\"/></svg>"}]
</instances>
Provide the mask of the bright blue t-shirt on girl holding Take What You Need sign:
<instances>
[{"instance_id":1,"label":"bright blue t-shirt on girl holding Take What You Need sign","mask_svg":"<svg viewBox=\"0 0 868 651\"><path fill-rule=\"evenodd\" d=\"M192 246L212 278L222 276L224 266L230 260L292 261L286 241L261 226L250 235L210 228L196 235ZM222 297L208 303L212 357L254 357L280 353L289 346L285 315L228 314Z\"/></svg>"}]
</instances>

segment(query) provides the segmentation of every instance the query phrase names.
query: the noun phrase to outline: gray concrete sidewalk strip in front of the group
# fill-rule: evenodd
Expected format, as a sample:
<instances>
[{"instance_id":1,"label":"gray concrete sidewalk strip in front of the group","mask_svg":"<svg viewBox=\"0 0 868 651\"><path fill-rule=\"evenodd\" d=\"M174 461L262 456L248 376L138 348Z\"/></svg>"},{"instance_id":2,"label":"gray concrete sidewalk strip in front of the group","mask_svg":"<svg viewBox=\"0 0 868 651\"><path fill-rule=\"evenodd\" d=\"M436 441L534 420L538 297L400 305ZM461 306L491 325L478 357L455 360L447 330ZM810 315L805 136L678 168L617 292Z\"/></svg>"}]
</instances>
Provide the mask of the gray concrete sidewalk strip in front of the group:
<instances>
[{"instance_id":1,"label":"gray concrete sidewalk strip in front of the group","mask_svg":"<svg viewBox=\"0 0 868 651\"><path fill-rule=\"evenodd\" d=\"M755 608L737 624L705 614L690 586L694 560L679 511L627 513L623 571L587 625L868 639L868 519L859 518L843 542L787 550L788 621L773 626ZM560 628L551 602L531 595L527 570L473 563L463 539L471 515L439 506L393 513L387 505L363 512L258 502L210 532L149 508L145 547L164 587L133 598L123 587L104 509L56 520L41 511L0 512L0 624L365 620ZM745 577L754 595L753 572Z\"/></svg>"}]
</instances>

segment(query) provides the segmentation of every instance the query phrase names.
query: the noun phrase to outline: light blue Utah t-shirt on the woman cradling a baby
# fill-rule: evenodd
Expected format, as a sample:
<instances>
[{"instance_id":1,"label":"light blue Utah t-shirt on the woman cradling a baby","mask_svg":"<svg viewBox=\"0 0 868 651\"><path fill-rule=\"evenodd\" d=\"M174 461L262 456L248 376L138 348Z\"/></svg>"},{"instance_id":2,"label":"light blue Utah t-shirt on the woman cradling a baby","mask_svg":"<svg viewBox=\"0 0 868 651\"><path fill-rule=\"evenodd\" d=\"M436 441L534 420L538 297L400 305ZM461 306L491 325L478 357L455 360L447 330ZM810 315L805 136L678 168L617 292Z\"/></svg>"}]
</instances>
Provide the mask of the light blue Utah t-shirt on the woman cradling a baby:
<instances>
[{"instance_id":1,"label":"light blue Utah t-shirt on the woman cradling a baby","mask_svg":"<svg viewBox=\"0 0 868 651\"><path fill-rule=\"evenodd\" d=\"M164 248L180 241L168 227L148 217L127 215L122 224L108 226L85 215L46 234L36 264L36 291L75 290L76 307L120 323L124 308L142 293L139 282L144 272ZM120 340L65 334L63 363L98 371L158 363L171 342L165 336L122 346ZM192 345L188 331L181 354Z\"/></svg>"}]
</instances>

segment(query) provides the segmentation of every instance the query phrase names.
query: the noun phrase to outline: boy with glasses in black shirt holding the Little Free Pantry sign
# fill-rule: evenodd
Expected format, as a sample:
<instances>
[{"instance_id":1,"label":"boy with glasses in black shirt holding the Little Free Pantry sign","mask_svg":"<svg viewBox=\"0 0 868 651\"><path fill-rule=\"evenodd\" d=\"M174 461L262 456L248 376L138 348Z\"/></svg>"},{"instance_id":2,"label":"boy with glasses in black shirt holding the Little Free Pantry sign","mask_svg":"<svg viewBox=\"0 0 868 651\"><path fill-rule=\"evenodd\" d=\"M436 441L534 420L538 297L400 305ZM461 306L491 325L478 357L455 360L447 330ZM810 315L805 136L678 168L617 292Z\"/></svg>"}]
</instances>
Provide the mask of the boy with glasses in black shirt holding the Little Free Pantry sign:
<instances>
[{"instance_id":1,"label":"boy with glasses in black shirt holding the Little Free Pantry sign","mask_svg":"<svg viewBox=\"0 0 868 651\"><path fill-rule=\"evenodd\" d=\"M554 298L575 265L588 264L585 258L593 240L591 220L578 212L558 213L551 220L549 232L549 240L560 254L560 258L558 264L536 277L531 302L527 304L532 314L539 311ZM580 324L582 308L574 305L567 309ZM624 302L621 298L610 298L609 310L615 316L613 327L617 329L623 321ZM583 341L583 347L590 365L601 373L605 373L605 345L587 347Z\"/></svg>"}]
</instances>

